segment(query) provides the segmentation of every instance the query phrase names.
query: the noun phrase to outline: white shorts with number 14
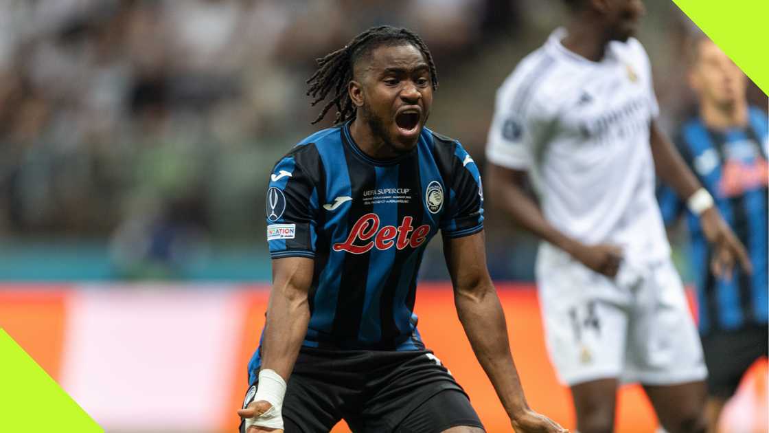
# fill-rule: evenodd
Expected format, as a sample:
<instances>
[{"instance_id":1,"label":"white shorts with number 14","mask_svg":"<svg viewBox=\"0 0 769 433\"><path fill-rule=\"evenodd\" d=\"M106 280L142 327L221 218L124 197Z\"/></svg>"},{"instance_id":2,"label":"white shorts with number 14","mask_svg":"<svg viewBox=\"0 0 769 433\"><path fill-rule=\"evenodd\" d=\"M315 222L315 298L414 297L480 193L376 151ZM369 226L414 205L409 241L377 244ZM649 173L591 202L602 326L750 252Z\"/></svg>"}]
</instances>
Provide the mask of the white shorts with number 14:
<instances>
[{"instance_id":1,"label":"white shorts with number 14","mask_svg":"<svg viewBox=\"0 0 769 433\"><path fill-rule=\"evenodd\" d=\"M697 328L670 259L604 277L542 248L537 281L548 351L568 385L603 378L650 385L707 377Z\"/></svg>"}]
</instances>

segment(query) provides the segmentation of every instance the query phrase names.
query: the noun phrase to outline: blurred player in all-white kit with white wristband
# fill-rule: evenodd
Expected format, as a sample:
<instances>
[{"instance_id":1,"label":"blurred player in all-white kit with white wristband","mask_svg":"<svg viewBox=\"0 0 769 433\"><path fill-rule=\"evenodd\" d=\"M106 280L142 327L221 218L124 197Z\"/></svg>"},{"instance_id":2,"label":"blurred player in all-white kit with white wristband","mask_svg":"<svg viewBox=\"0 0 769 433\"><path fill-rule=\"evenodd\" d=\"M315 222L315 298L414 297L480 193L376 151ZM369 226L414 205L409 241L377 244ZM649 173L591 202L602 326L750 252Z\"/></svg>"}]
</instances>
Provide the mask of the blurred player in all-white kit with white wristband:
<instances>
[{"instance_id":1,"label":"blurred player in all-white kit with white wristband","mask_svg":"<svg viewBox=\"0 0 769 433\"><path fill-rule=\"evenodd\" d=\"M671 263L655 168L700 216L714 272L750 264L657 126L651 65L632 38L643 3L567 3L570 22L498 90L488 191L544 240L536 269L544 328L578 431L613 431L621 382L644 386L667 431L705 431L707 369ZM529 179L538 202L526 193Z\"/></svg>"}]
</instances>

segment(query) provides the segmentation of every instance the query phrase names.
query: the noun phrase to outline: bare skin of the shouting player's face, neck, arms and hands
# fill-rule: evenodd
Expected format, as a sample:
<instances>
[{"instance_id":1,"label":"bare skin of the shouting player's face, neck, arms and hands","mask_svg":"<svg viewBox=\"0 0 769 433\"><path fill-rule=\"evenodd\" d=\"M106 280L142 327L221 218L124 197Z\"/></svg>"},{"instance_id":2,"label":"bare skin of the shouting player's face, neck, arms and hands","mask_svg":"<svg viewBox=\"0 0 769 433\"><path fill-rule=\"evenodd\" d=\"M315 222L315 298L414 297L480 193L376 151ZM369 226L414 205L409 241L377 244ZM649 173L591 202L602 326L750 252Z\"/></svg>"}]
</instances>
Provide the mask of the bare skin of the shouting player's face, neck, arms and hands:
<instances>
[{"instance_id":1,"label":"bare skin of the shouting player's face, neck, arms and hands","mask_svg":"<svg viewBox=\"0 0 769 433\"><path fill-rule=\"evenodd\" d=\"M358 107L358 116L351 125L351 133L369 156L391 158L416 146L432 102L429 69L426 68L421 52L413 45L379 47L371 52L368 62L355 65L355 79L348 92ZM395 120L397 113L404 109L419 113L415 133L411 129L404 133ZM514 430L527 433L567 431L528 407L510 352L504 313L488 275L484 233L458 239L445 238L444 256L454 286L454 304L465 334L508 412ZM302 257L272 260L273 287L262 366L276 371L287 382L307 333L310 318L308 291L314 266L314 260ZM255 401L248 408L239 410L238 415L253 418L269 408L267 401ZM247 433L275 431L281 430L251 427ZM443 433L482 431L456 426Z\"/></svg>"}]
</instances>

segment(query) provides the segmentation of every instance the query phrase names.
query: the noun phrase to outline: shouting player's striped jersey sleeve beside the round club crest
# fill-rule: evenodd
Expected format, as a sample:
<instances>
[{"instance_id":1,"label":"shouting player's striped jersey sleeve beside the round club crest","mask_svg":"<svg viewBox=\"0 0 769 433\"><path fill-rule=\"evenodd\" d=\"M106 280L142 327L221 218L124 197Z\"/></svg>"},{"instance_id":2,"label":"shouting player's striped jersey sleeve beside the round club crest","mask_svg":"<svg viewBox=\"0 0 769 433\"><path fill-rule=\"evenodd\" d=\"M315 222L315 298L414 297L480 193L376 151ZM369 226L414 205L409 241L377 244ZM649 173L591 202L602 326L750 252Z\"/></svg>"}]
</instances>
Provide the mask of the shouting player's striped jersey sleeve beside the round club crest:
<instances>
[{"instance_id":1,"label":"shouting player's striped jersey sleeve beside the round club crest","mask_svg":"<svg viewBox=\"0 0 769 433\"><path fill-rule=\"evenodd\" d=\"M463 237L483 230L481 173L470 154L456 143L447 182L448 209L441 219L445 237Z\"/></svg>"}]
</instances>

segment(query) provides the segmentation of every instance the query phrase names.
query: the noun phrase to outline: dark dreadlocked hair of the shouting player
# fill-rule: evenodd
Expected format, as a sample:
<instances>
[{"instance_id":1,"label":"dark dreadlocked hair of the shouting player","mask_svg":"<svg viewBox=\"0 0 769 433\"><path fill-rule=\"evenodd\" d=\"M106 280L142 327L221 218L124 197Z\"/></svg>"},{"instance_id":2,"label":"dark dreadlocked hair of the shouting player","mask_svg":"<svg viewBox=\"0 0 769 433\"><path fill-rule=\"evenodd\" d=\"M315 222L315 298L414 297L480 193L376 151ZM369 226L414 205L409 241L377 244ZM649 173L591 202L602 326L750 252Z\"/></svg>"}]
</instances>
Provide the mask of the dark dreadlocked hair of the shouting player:
<instances>
[{"instance_id":1,"label":"dark dreadlocked hair of the shouting player","mask_svg":"<svg viewBox=\"0 0 769 433\"><path fill-rule=\"evenodd\" d=\"M355 36L344 48L331 52L318 59L318 70L307 80L309 89L307 95L314 100L311 106L323 101L332 90L334 96L326 103L318 117L312 122L320 122L328 110L336 107L335 123L342 123L355 118L355 106L348 95L347 85L352 79L352 69L355 62L362 56L368 55L381 45L414 45L424 56L430 66L430 76L433 90L438 89L438 73L427 45L414 32L408 29L397 29L389 25L380 25Z\"/></svg>"}]
</instances>

